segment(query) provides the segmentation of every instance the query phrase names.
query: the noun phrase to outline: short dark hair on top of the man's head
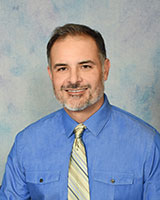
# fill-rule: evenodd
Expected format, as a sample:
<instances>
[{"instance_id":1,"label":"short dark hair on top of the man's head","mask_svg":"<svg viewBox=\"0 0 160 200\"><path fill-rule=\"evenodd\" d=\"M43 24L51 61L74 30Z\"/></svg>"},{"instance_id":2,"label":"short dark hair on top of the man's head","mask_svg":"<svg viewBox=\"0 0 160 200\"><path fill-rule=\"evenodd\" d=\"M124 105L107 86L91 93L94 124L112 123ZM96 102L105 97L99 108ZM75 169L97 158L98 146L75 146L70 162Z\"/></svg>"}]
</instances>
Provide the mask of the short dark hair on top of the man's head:
<instances>
[{"instance_id":1,"label":"short dark hair on top of the man's head","mask_svg":"<svg viewBox=\"0 0 160 200\"><path fill-rule=\"evenodd\" d=\"M68 35L88 35L94 39L96 42L96 45L98 47L99 53L100 53L100 58L101 59L106 59L106 48L105 48L105 43L102 35L96 31L91 29L90 27L86 25L81 25L81 24L65 24L64 26L59 26L57 27L54 31L53 34L47 44L47 59L48 63L50 64L50 52L51 48L56 42L56 40L65 38Z\"/></svg>"}]
</instances>

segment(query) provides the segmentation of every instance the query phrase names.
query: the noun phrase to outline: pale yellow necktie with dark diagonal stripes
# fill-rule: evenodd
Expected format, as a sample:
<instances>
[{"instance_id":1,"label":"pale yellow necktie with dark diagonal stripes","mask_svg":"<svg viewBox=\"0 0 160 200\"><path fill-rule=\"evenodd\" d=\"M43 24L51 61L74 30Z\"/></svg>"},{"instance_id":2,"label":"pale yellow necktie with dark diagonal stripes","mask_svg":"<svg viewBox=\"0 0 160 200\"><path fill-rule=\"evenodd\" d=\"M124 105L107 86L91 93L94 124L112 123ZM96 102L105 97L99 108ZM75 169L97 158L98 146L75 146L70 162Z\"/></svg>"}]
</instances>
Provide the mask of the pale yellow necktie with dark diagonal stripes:
<instances>
[{"instance_id":1,"label":"pale yellow necktie with dark diagonal stripes","mask_svg":"<svg viewBox=\"0 0 160 200\"><path fill-rule=\"evenodd\" d=\"M68 172L68 200L90 200L86 152L81 139L85 128L85 125L79 124L74 129L75 140Z\"/></svg>"}]
</instances>

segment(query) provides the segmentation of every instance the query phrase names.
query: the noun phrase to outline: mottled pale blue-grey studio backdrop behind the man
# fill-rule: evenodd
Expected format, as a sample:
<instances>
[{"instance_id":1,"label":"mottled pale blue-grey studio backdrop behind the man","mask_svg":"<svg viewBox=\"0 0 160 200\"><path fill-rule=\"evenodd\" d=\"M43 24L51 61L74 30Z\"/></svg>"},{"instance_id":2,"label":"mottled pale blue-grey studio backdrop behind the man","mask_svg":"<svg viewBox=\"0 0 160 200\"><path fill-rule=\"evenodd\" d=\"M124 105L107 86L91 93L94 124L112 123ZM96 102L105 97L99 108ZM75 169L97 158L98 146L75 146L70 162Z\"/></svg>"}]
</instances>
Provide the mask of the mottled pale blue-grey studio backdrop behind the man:
<instances>
[{"instance_id":1,"label":"mottled pale blue-grey studio backdrop behind the man","mask_svg":"<svg viewBox=\"0 0 160 200\"><path fill-rule=\"evenodd\" d=\"M68 22L103 34L112 64L110 102L160 131L159 0L0 0L0 182L15 135L60 107L46 44Z\"/></svg>"}]
</instances>

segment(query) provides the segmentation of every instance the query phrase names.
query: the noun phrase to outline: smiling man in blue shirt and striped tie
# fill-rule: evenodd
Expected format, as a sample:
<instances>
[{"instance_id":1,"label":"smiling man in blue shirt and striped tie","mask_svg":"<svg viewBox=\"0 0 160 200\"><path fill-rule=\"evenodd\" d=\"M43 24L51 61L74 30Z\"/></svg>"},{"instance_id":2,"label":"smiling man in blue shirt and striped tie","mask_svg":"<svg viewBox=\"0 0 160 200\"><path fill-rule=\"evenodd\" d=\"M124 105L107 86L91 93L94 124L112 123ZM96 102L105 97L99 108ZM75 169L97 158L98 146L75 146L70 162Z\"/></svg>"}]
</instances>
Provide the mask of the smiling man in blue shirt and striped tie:
<instances>
[{"instance_id":1,"label":"smiling man in blue shirt and striped tie","mask_svg":"<svg viewBox=\"0 0 160 200\"><path fill-rule=\"evenodd\" d=\"M78 24L58 27L47 56L63 109L17 135L0 199L159 200L159 133L109 104L101 34Z\"/></svg>"}]
</instances>

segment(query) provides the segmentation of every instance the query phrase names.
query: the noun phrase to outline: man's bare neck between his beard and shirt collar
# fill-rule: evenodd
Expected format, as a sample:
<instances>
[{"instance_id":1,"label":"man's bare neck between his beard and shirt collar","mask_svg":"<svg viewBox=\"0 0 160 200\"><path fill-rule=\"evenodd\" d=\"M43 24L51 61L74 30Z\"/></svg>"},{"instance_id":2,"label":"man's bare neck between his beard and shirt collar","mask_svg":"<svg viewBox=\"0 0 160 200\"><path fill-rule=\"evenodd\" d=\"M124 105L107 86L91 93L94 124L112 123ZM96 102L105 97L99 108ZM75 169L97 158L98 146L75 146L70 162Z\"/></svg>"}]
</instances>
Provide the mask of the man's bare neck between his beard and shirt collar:
<instances>
[{"instance_id":1,"label":"man's bare neck between his beard and shirt collar","mask_svg":"<svg viewBox=\"0 0 160 200\"><path fill-rule=\"evenodd\" d=\"M100 107L102 106L104 102L104 96L95 104L87 107L84 110L81 111L71 111L68 110L67 108L64 108L65 111L68 113L68 115L74 119L76 122L78 123L83 123L84 121L86 121L88 118L90 118L95 112L97 112Z\"/></svg>"}]
</instances>

